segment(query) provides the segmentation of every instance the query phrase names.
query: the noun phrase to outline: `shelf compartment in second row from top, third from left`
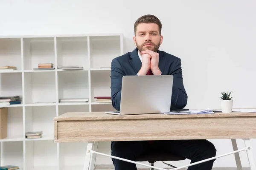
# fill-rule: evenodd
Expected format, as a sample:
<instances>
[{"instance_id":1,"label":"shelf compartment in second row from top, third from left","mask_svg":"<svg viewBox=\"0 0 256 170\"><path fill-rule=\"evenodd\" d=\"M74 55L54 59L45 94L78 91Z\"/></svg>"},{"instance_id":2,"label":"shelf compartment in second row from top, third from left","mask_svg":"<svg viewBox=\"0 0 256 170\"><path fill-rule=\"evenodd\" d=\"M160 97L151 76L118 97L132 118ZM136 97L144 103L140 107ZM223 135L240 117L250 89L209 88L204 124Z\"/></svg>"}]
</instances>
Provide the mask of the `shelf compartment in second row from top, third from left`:
<instances>
[{"instance_id":1,"label":"shelf compartment in second row from top, third from left","mask_svg":"<svg viewBox=\"0 0 256 170\"><path fill-rule=\"evenodd\" d=\"M89 98L88 71L58 73L58 99Z\"/></svg>"}]
</instances>

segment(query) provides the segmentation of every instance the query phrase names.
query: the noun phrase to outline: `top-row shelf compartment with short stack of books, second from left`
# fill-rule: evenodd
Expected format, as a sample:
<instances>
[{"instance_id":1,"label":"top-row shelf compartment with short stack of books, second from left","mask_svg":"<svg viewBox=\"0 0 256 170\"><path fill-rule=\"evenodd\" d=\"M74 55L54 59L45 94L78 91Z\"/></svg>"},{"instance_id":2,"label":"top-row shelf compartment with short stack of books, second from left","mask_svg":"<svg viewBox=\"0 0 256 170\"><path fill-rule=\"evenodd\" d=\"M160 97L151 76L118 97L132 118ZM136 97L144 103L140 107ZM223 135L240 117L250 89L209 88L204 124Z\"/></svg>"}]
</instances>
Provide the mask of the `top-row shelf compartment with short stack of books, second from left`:
<instances>
[{"instance_id":1,"label":"top-row shelf compartment with short stack of books, second from left","mask_svg":"<svg viewBox=\"0 0 256 170\"><path fill-rule=\"evenodd\" d=\"M23 38L24 70L38 68L39 63L55 67L54 38Z\"/></svg>"}]
</instances>

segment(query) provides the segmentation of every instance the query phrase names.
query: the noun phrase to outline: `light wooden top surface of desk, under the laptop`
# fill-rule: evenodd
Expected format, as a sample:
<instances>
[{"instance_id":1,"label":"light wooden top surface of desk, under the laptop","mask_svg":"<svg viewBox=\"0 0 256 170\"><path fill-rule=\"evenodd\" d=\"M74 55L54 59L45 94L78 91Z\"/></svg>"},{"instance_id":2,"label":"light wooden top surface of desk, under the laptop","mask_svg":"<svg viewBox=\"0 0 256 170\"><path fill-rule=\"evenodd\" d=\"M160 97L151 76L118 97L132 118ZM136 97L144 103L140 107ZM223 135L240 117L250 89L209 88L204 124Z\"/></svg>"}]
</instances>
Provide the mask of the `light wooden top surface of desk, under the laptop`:
<instances>
[{"instance_id":1,"label":"light wooden top surface of desk, under the laptop","mask_svg":"<svg viewBox=\"0 0 256 170\"><path fill-rule=\"evenodd\" d=\"M255 108L253 108L255 109ZM136 115L113 115L105 112L67 112L54 118L55 121L69 120L113 120L113 119L175 119L175 118L204 118L204 117L253 117L256 113L232 112L214 114L186 114L186 115L170 115L163 113L136 114Z\"/></svg>"}]
</instances>

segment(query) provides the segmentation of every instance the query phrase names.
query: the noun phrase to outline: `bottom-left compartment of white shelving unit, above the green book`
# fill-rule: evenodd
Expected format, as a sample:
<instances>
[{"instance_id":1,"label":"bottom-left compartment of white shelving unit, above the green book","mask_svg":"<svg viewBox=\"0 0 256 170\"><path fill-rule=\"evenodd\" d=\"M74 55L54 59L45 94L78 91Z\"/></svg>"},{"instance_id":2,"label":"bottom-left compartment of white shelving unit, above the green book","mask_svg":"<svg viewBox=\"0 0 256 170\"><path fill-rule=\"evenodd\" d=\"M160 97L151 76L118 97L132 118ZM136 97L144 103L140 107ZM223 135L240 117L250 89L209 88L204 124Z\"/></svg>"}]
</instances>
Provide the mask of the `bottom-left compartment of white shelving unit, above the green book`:
<instances>
[{"instance_id":1,"label":"bottom-left compartment of white shelving unit, above the green book","mask_svg":"<svg viewBox=\"0 0 256 170\"><path fill-rule=\"evenodd\" d=\"M23 168L23 142L2 142L1 165L15 165Z\"/></svg>"}]
</instances>

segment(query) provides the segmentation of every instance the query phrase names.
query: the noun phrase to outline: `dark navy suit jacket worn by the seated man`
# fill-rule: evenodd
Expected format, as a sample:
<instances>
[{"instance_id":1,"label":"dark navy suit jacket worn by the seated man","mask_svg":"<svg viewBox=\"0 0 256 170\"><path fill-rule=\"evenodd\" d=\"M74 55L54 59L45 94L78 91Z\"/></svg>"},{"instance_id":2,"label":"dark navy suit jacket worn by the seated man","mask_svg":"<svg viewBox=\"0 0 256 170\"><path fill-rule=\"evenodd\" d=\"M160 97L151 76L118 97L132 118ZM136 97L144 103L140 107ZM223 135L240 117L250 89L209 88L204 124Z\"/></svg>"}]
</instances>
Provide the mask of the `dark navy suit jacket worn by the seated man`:
<instances>
[{"instance_id":1,"label":"dark navy suit jacket worn by the seated man","mask_svg":"<svg viewBox=\"0 0 256 170\"><path fill-rule=\"evenodd\" d=\"M187 94L183 85L180 58L164 51L159 53L159 69L162 75L173 75L171 109L184 108L187 104ZM113 108L120 111L122 77L137 75L142 62L138 56L137 48L122 56L116 57L111 62L111 100Z\"/></svg>"}]
</instances>

